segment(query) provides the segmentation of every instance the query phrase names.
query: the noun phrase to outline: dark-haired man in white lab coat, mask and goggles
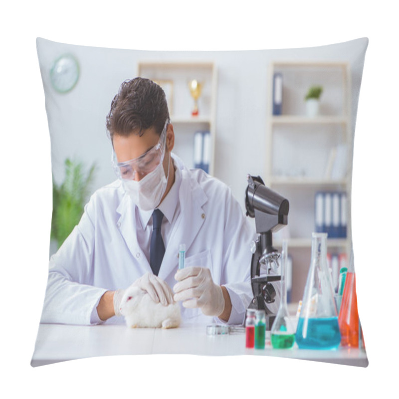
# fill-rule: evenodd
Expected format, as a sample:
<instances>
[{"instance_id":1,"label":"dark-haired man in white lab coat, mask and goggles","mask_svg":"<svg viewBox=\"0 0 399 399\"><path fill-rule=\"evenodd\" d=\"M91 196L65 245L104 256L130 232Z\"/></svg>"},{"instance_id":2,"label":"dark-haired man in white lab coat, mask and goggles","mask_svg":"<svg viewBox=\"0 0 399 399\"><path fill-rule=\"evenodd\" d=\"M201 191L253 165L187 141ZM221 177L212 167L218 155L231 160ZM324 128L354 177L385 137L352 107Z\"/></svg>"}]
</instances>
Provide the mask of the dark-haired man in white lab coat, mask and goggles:
<instances>
[{"instance_id":1,"label":"dark-haired man in white lab coat, mask and goggles","mask_svg":"<svg viewBox=\"0 0 399 399\"><path fill-rule=\"evenodd\" d=\"M122 83L107 129L119 179L92 195L51 257L41 321L124 322L121 297L134 284L156 302L180 302L184 321L241 324L255 232L226 185L171 153L162 88L142 78Z\"/></svg>"}]
</instances>

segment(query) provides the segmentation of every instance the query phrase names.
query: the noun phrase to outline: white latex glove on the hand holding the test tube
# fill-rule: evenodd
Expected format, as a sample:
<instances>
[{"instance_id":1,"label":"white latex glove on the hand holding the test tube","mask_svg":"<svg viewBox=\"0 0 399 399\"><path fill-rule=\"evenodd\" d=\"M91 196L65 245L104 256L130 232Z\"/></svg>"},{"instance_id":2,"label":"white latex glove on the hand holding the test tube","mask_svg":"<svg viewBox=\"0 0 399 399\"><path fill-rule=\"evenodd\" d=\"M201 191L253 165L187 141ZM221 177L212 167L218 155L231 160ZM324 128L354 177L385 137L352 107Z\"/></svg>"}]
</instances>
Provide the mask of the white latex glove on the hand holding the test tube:
<instances>
[{"instance_id":1,"label":"white latex glove on the hand holding the test tube","mask_svg":"<svg viewBox=\"0 0 399 399\"><path fill-rule=\"evenodd\" d=\"M174 300L185 308L201 308L206 316L219 316L224 310L221 287L215 284L206 267L185 267L175 274Z\"/></svg>"}]
</instances>

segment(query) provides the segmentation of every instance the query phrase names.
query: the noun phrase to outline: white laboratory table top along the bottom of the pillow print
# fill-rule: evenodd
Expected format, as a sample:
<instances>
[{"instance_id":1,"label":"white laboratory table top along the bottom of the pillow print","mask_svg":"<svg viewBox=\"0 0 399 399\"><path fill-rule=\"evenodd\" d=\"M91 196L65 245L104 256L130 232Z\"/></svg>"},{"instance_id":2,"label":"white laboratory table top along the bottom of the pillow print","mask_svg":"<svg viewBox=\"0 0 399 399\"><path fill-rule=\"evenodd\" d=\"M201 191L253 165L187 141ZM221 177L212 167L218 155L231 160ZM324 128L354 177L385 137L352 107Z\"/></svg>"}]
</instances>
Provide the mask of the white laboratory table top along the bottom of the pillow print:
<instances>
[{"instance_id":1,"label":"white laboratory table top along the bottom of the pillow print","mask_svg":"<svg viewBox=\"0 0 399 399\"><path fill-rule=\"evenodd\" d=\"M270 333L269 333L270 334ZM367 367L360 349L303 350L266 347L246 349L245 334L206 335L206 326L183 324L176 329L131 329L125 325L76 326L40 324L31 366L108 355L190 354L207 356L277 356Z\"/></svg>"}]
</instances>

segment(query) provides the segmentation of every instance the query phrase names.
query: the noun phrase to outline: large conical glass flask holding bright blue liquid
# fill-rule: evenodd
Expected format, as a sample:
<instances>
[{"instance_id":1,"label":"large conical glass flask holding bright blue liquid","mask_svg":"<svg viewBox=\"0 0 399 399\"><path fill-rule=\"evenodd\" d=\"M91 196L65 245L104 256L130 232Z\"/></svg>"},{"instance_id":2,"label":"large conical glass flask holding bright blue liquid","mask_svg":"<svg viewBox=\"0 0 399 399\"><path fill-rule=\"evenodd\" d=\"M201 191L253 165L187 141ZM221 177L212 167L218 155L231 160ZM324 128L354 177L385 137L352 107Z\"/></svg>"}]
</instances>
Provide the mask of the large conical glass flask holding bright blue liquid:
<instances>
[{"instance_id":1,"label":"large conical glass flask holding bright blue liquid","mask_svg":"<svg viewBox=\"0 0 399 399\"><path fill-rule=\"evenodd\" d=\"M334 290L327 265L326 233L312 233L312 259L295 340L302 349L335 349L341 342Z\"/></svg>"}]
</instances>

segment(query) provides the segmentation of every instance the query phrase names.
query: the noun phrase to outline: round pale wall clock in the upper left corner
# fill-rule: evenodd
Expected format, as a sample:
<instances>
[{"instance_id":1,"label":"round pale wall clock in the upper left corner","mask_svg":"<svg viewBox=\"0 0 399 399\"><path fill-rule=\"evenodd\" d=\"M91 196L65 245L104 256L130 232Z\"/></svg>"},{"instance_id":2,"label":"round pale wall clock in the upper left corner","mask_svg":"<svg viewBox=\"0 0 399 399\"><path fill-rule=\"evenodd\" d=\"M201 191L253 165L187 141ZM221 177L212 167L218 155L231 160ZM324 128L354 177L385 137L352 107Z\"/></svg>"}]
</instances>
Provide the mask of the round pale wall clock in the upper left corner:
<instances>
[{"instance_id":1,"label":"round pale wall clock in the upper left corner","mask_svg":"<svg viewBox=\"0 0 399 399\"><path fill-rule=\"evenodd\" d=\"M50 80L58 93L72 90L79 79L79 63L71 54L61 55L50 69Z\"/></svg>"}]
</instances>

